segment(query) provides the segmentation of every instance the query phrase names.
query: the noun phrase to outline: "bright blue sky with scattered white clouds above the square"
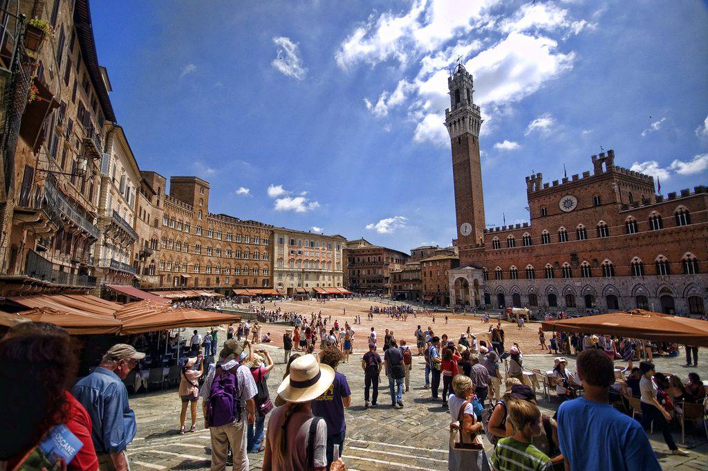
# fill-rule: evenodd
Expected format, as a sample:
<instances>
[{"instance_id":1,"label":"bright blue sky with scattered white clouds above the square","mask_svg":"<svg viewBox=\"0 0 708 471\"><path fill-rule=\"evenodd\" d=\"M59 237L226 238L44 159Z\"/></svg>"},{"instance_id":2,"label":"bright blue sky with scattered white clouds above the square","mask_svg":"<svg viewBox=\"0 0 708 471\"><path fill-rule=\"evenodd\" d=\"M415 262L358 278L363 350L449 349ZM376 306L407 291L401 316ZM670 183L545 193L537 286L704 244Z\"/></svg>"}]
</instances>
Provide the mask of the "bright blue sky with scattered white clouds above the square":
<instances>
[{"instance_id":1,"label":"bright blue sky with scattered white clouds above the square","mask_svg":"<svg viewBox=\"0 0 708 471\"><path fill-rule=\"evenodd\" d=\"M407 251L455 237L447 68L474 75L488 225L524 177L615 164L708 183L702 1L92 1L141 169L210 211Z\"/></svg>"}]
</instances>

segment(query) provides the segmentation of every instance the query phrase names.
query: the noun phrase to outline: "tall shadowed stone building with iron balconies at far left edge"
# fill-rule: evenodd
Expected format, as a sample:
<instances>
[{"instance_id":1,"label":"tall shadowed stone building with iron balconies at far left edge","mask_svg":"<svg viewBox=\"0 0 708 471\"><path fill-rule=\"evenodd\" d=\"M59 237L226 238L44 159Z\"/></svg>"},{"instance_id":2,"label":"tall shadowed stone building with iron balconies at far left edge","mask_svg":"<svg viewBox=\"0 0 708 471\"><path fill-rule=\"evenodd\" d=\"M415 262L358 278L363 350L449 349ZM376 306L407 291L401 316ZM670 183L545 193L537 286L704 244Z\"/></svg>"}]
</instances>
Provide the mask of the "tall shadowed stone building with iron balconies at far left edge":
<instances>
[{"instance_id":1,"label":"tall shadowed stone building with iron balconies at far left edge","mask_svg":"<svg viewBox=\"0 0 708 471\"><path fill-rule=\"evenodd\" d=\"M4 47L15 52L13 62L0 59L0 86L16 96L0 110L0 291L86 292L96 285L105 127L115 122L110 81L98 64L86 0L18 6L55 34L32 50L25 25L11 19L0 26Z\"/></svg>"}]
</instances>

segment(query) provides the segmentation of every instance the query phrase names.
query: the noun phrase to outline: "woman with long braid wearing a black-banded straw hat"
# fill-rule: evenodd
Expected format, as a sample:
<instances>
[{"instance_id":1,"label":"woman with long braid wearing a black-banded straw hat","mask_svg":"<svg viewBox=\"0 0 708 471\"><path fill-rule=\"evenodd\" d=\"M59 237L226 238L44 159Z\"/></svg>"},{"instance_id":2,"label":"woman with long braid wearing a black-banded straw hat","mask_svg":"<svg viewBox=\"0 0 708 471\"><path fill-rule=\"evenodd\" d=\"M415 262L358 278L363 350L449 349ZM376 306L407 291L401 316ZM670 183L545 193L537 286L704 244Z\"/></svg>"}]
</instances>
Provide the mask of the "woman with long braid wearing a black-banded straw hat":
<instances>
[{"instance_id":1,"label":"woman with long braid wearing a black-banded straw hat","mask_svg":"<svg viewBox=\"0 0 708 471\"><path fill-rule=\"evenodd\" d=\"M290 363L278 387L287 404L270 414L265 437L263 471L325 471L327 469L327 425L312 414L312 401L329 389L334 380L331 366L320 364L313 355L303 355ZM346 470L341 460L333 471Z\"/></svg>"}]
</instances>

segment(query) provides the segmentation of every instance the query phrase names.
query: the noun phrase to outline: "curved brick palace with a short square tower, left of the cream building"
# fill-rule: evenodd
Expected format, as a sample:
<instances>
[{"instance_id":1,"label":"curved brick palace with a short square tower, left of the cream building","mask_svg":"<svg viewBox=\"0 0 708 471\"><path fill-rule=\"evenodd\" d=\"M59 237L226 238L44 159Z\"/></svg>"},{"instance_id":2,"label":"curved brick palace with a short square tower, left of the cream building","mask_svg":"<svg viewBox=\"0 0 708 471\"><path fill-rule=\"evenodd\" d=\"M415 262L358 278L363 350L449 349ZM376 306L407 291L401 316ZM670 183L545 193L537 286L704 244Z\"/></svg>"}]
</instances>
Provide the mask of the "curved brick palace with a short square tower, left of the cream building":
<instances>
[{"instance_id":1,"label":"curved brick palace with a short square tower, left of the cream building","mask_svg":"<svg viewBox=\"0 0 708 471\"><path fill-rule=\"evenodd\" d=\"M209 212L207 181L170 178L161 195L160 287L273 288L273 226Z\"/></svg>"}]
</instances>

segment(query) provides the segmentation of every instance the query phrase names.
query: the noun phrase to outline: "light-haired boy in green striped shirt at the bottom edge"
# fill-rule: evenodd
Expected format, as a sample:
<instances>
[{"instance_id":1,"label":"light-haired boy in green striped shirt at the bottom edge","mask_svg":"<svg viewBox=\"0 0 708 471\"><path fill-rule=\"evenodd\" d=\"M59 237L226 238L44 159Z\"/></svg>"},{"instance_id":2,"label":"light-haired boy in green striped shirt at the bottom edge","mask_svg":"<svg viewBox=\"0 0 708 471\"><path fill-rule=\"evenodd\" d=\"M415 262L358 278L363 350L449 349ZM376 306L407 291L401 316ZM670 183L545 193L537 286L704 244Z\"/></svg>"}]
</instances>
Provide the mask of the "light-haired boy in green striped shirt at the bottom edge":
<instances>
[{"instance_id":1,"label":"light-haired boy in green striped shirt at the bottom edge","mask_svg":"<svg viewBox=\"0 0 708 471\"><path fill-rule=\"evenodd\" d=\"M547 471L551 459L532 445L531 440L541 434L541 411L536 404L511 399L507 402L508 421L513 436L498 441L491 455L494 471Z\"/></svg>"}]
</instances>

